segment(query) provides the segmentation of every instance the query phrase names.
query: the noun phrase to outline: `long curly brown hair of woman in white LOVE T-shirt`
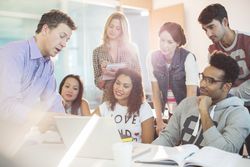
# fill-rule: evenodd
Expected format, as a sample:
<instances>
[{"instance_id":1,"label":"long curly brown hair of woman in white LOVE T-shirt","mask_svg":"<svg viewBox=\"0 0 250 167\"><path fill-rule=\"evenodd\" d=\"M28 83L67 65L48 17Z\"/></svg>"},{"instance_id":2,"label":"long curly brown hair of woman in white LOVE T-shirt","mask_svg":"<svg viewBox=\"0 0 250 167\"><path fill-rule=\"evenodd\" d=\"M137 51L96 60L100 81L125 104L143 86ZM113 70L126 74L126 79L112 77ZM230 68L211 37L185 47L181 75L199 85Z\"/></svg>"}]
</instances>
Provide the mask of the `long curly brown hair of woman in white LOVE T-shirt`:
<instances>
[{"instance_id":1,"label":"long curly brown hair of woman in white LOVE T-shirt","mask_svg":"<svg viewBox=\"0 0 250 167\"><path fill-rule=\"evenodd\" d=\"M115 79L112 83L112 92L110 93L110 99L109 99L110 108L112 111L114 111L114 107L117 103L117 99L114 96L113 87L114 87L114 84L115 84L117 78L120 75L128 76L131 79L132 85L133 85L131 93L128 97L128 104L127 104L128 116L130 117L134 113L139 114L140 106L144 100L142 78L136 71L134 71L132 69L128 69L128 68L119 69L116 72Z\"/></svg>"}]
</instances>

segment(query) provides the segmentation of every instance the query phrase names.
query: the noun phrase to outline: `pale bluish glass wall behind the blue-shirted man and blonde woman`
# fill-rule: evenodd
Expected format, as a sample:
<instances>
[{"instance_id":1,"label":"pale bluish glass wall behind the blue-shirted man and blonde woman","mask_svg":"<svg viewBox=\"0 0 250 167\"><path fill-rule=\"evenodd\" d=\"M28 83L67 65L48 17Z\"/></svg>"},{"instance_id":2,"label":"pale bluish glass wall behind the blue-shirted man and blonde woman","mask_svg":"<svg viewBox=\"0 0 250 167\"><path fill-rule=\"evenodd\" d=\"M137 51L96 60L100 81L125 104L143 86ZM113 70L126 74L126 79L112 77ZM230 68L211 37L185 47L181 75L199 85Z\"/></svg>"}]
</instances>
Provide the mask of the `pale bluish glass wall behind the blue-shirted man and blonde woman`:
<instances>
[{"instance_id":1,"label":"pale bluish glass wall behind the blue-shirted man and blonde woman","mask_svg":"<svg viewBox=\"0 0 250 167\"><path fill-rule=\"evenodd\" d=\"M0 46L14 40L30 38L35 33L41 15L51 9L63 9L73 18L78 29L71 40L54 60L57 85L70 73L78 74L84 82L84 96L90 107L101 102L102 92L94 85L92 52L102 42L107 17L116 8L81 1L18 0L0 1ZM148 17L141 16L138 9L124 9L131 27L132 40L138 46L142 68L148 53ZM144 85L148 89L146 70Z\"/></svg>"}]
</instances>

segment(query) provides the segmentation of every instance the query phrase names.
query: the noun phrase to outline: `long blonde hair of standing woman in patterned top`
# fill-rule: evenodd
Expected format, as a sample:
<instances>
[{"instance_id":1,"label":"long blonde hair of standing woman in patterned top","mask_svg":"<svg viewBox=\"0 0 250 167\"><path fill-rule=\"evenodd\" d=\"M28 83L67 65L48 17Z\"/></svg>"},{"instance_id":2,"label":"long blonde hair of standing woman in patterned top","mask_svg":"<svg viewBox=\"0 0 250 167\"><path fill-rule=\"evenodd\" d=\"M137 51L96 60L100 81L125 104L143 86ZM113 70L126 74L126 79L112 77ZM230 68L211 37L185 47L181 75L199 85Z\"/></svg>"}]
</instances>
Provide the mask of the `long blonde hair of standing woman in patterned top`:
<instances>
[{"instance_id":1,"label":"long blonde hair of standing woman in patterned top","mask_svg":"<svg viewBox=\"0 0 250 167\"><path fill-rule=\"evenodd\" d=\"M108 26L110 25L110 23L113 19L117 19L121 23L122 33L121 33L121 37L120 37L120 42L121 43L129 42L130 41L130 30L129 30L128 20L124 14L122 14L120 12L115 12L108 17L108 20L105 24L104 32L103 32L103 44L108 44L108 42L109 42L109 37L107 35L107 29L108 29Z\"/></svg>"}]
</instances>

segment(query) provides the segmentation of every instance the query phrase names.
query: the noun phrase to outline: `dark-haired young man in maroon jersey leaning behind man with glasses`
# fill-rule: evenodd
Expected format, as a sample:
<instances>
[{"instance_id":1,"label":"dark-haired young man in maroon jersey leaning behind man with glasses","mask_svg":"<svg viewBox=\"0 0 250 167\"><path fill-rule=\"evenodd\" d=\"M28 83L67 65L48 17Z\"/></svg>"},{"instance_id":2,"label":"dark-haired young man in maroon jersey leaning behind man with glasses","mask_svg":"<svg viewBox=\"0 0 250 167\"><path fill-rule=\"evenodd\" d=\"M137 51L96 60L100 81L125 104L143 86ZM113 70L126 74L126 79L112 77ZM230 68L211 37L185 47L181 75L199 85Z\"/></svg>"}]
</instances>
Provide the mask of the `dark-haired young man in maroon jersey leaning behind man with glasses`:
<instances>
[{"instance_id":1,"label":"dark-haired young man in maroon jersey leaning behind man with glasses","mask_svg":"<svg viewBox=\"0 0 250 167\"><path fill-rule=\"evenodd\" d=\"M227 11L221 4L207 6L200 13L198 21L213 42L209 46L209 53L222 51L237 61L240 74L230 93L244 100L250 112L250 34L229 27ZM250 136L246 144L250 153Z\"/></svg>"}]
</instances>

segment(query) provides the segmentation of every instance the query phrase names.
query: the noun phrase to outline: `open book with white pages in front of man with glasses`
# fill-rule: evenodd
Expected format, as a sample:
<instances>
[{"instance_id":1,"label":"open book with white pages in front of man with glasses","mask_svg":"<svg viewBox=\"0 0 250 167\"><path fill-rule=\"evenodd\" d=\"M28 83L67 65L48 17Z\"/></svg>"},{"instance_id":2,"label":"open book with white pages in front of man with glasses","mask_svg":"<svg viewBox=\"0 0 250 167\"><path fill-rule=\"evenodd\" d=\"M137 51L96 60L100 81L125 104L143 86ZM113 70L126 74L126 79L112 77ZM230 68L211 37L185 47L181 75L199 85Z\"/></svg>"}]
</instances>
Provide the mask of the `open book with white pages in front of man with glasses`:
<instances>
[{"instance_id":1,"label":"open book with white pages in front of man with glasses","mask_svg":"<svg viewBox=\"0 0 250 167\"><path fill-rule=\"evenodd\" d=\"M195 145L186 144L177 147L151 145L151 151L135 159L135 162L149 164L178 165L180 167L234 167L241 156L214 147L199 149Z\"/></svg>"}]
</instances>

